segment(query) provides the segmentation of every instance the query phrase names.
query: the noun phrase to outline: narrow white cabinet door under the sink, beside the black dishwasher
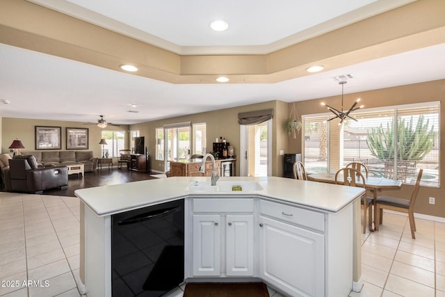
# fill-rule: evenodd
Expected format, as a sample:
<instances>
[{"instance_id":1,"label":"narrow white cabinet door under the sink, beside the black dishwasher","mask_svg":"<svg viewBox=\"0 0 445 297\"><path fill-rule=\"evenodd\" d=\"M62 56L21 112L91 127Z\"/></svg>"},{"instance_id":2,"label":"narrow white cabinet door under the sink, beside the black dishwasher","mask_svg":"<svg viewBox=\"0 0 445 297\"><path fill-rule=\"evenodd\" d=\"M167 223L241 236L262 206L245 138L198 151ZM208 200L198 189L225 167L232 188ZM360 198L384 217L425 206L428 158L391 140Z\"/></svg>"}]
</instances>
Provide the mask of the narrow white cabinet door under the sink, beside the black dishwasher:
<instances>
[{"instance_id":1,"label":"narrow white cabinet door under the sink, beside the black dishwasher","mask_svg":"<svg viewBox=\"0 0 445 297\"><path fill-rule=\"evenodd\" d=\"M193 215L193 275L220 275L219 215Z\"/></svg>"}]
</instances>

